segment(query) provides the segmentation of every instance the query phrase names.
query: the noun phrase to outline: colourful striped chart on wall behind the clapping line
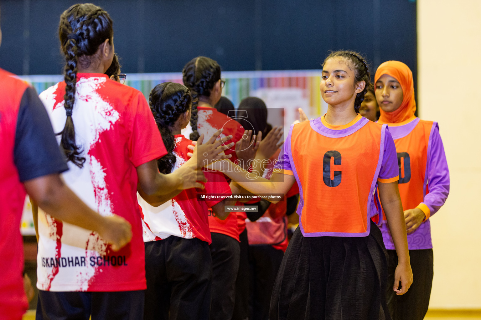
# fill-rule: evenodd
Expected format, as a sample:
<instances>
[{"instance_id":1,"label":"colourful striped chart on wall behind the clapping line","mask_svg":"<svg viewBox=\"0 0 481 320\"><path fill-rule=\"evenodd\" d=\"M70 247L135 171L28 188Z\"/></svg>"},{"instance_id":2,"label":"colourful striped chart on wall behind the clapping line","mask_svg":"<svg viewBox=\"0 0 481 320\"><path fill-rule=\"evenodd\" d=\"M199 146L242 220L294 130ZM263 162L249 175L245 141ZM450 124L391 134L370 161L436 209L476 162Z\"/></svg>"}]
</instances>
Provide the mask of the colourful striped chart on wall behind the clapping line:
<instances>
[{"instance_id":1,"label":"colourful striped chart on wall behind the clapping line","mask_svg":"<svg viewBox=\"0 0 481 320\"><path fill-rule=\"evenodd\" d=\"M38 93L63 80L61 75L20 78L31 83ZM319 91L321 70L224 71L222 78L226 80L222 95L228 97L236 108L243 98L257 96L266 102L268 108L285 108L286 122L294 117L291 110L298 107L302 107L310 118L318 117L327 110ZM182 83L182 74L129 73L126 84L140 90L148 99L154 86L167 81Z\"/></svg>"}]
</instances>

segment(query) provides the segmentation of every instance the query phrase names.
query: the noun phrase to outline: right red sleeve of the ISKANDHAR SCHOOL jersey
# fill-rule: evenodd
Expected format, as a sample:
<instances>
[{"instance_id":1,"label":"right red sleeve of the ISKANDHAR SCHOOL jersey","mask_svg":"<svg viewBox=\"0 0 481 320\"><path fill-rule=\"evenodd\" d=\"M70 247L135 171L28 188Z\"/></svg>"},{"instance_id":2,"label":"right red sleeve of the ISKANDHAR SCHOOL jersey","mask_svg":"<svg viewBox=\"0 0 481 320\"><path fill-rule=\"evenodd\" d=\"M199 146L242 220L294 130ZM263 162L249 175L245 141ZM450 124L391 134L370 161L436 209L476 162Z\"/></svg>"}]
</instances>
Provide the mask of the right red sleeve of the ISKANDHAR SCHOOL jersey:
<instances>
[{"instance_id":1,"label":"right red sleeve of the ISKANDHAR SCHOOL jersey","mask_svg":"<svg viewBox=\"0 0 481 320\"><path fill-rule=\"evenodd\" d=\"M130 102L133 112L132 130L129 137L129 156L134 166L159 159L167 154L162 136L152 116L149 104L141 92Z\"/></svg>"}]
</instances>

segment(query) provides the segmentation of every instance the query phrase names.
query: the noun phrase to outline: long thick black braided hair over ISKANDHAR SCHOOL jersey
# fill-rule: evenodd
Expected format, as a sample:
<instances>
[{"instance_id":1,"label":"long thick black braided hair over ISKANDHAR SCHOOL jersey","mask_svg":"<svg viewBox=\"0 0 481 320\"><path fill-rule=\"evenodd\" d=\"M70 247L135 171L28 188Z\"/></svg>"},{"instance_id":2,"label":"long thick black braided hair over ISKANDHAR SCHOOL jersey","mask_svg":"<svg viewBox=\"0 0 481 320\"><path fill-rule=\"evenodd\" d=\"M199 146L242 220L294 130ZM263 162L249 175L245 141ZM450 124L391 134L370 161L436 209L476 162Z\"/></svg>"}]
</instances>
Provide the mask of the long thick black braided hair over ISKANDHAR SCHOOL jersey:
<instances>
[{"instance_id":1,"label":"long thick black braided hair over ISKANDHAR SCHOOL jersey","mask_svg":"<svg viewBox=\"0 0 481 320\"><path fill-rule=\"evenodd\" d=\"M77 64L88 68L99 46L109 39L112 44L114 29L109 14L91 3L75 4L60 16L59 37L61 50L65 54L65 113L67 120L63 130L60 146L67 161L83 167L85 157L80 156L83 149L76 145L72 109L75 103L77 83Z\"/></svg>"}]
</instances>

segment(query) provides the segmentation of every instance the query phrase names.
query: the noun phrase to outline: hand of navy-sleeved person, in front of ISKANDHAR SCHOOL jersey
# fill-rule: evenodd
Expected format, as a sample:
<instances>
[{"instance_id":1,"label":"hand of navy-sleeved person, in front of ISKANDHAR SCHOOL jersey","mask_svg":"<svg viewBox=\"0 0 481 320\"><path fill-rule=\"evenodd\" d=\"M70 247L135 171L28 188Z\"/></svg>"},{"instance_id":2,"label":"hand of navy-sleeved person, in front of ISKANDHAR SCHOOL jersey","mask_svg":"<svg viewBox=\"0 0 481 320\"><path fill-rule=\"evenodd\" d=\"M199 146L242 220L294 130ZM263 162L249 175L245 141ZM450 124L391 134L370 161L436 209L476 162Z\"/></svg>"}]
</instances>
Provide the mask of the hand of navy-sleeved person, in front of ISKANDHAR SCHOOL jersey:
<instances>
[{"instance_id":1,"label":"hand of navy-sleeved person, in front of ISKANDHAR SCHOOL jersey","mask_svg":"<svg viewBox=\"0 0 481 320\"><path fill-rule=\"evenodd\" d=\"M112 250L122 249L132 239L132 226L116 214L104 218L104 225L99 230L100 237L112 245Z\"/></svg>"}]
</instances>

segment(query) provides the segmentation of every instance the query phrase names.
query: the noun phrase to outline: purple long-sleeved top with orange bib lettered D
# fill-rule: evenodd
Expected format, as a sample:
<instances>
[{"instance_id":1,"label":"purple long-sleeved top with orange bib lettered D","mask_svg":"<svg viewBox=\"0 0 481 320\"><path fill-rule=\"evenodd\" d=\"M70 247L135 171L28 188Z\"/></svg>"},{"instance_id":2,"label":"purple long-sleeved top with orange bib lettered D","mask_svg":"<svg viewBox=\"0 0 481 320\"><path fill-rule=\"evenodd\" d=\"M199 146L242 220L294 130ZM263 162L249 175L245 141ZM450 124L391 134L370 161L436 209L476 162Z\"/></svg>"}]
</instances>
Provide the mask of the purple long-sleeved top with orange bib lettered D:
<instances>
[{"instance_id":1,"label":"purple long-sleeved top with orange bib lettered D","mask_svg":"<svg viewBox=\"0 0 481 320\"><path fill-rule=\"evenodd\" d=\"M403 209L417 207L426 215L425 221L418 229L407 235L408 248L410 250L431 249L430 217L438 212L449 194L449 170L438 123L413 117L413 120L402 125L389 124L389 131L398 154L399 189ZM412 185L420 183L422 186ZM408 189L403 190L403 188ZM406 203L416 201L414 198L421 201L406 207ZM395 249L385 220L381 225L381 232L386 249Z\"/></svg>"}]
</instances>

